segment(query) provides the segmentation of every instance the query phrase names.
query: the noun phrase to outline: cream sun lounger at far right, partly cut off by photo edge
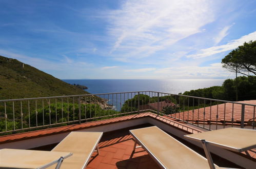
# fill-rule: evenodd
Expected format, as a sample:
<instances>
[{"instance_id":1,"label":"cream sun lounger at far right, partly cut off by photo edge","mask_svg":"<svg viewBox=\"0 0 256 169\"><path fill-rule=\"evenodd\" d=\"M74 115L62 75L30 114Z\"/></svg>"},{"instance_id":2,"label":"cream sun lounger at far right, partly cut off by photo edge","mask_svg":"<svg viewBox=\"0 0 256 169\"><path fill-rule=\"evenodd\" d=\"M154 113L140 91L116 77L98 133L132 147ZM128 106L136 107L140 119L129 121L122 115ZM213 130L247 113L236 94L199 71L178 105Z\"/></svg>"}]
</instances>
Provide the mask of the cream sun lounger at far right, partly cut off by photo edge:
<instances>
[{"instance_id":1,"label":"cream sun lounger at far right, partly cut off by photo edge","mask_svg":"<svg viewBox=\"0 0 256 169\"><path fill-rule=\"evenodd\" d=\"M214 167L208 145L221 147L234 152L245 152L248 156L250 154L247 151L256 148L256 130L253 129L225 128L189 134L184 137L202 143L211 168ZM256 168L255 165L252 168Z\"/></svg>"}]
</instances>

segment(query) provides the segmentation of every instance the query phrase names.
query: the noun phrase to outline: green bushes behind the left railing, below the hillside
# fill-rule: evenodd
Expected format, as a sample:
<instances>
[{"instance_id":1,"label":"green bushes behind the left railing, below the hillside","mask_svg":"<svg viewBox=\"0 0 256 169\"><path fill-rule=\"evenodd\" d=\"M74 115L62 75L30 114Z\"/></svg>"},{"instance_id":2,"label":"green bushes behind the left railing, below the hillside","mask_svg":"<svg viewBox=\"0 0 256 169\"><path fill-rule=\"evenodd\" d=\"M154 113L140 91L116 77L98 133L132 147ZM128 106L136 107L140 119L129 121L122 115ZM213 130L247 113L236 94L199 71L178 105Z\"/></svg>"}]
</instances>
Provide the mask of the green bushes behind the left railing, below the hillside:
<instances>
[{"instance_id":1,"label":"green bushes behind the left railing, below the hillside","mask_svg":"<svg viewBox=\"0 0 256 169\"><path fill-rule=\"evenodd\" d=\"M51 113L50 113L51 112ZM36 114L37 113L37 114ZM99 104L81 104L81 119L87 119L86 121L106 119L108 117L101 116L109 116L109 117L117 117L120 116L117 114L118 112L113 110L103 110ZM51 103L50 106L45 106L44 108L40 108L30 112L30 114L26 114L26 116L21 119L21 117L16 118L15 120L15 129L29 128L35 126L43 126L49 124L60 123L58 126L67 125L68 121L79 120L79 105L77 103ZM10 118L12 119L12 117ZM7 131L14 130L14 123L12 120L7 119L5 121L2 119L0 121L0 132L6 131L6 123L7 123ZM50 122L51 121L51 122ZM62 123L64 122L64 123ZM71 122L75 123L75 122ZM50 127L50 126L48 126ZM56 125L54 125L56 127ZM43 128L41 128L43 129Z\"/></svg>"}]
</instances>

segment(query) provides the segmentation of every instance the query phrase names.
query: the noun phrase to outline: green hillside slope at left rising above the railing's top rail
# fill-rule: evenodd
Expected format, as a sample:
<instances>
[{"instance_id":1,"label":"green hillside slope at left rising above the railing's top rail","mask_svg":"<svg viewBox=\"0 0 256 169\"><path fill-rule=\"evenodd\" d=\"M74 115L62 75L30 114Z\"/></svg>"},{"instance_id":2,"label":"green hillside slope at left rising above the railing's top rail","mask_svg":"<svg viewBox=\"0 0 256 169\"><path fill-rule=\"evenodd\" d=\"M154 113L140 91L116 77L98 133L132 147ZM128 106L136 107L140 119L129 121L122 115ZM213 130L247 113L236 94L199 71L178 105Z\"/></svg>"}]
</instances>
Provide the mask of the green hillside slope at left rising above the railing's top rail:
<instances>
[{"instance_id":1,"label":"green hillside slope at left rising above the railing's top rail","mask_svg":"<svg viewBox=\"0 0 256 169\"><path fill-rule=\"evenodd\" d=\"M88 94L16 59L0 56L0 99Z\"/></svg>"}]
</instances>

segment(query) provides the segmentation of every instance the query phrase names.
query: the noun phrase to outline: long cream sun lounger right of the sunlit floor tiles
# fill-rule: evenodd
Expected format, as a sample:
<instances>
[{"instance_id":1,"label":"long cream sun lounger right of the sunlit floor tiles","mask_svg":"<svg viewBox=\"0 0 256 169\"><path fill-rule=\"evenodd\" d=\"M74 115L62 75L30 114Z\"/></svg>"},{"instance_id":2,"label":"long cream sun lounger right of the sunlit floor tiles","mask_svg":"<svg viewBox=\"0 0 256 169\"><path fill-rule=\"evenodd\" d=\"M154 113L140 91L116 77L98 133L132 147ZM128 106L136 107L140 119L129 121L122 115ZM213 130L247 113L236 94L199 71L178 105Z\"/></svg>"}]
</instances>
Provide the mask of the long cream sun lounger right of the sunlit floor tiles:
<instances>
[{"instance_id":1,"label":"long cream sun lounger right of the sunlit floor tiles","mask_svg":"<svg viewBox=\"0 0 256 169\"><path fill-rule=\"evenodd\" d=\"M131 135L162 168L209 168L206 158L156 126L130 130ZM215 168L219 168L215 165Z\"/></svg>"}]
</instances>

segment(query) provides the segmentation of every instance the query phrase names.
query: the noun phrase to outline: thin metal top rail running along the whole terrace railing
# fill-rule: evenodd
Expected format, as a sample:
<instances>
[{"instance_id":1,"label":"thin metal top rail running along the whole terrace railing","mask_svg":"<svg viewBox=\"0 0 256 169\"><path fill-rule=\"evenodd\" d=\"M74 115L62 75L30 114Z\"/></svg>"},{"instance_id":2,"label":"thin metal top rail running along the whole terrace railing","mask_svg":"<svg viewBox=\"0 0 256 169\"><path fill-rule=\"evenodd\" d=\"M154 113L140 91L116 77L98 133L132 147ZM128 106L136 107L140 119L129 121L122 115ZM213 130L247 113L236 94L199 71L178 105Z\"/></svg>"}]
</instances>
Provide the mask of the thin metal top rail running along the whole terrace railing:
<instances>
[{"instance_id":1,"label":"thin metal top rail running along the whole terrace railing","mask_svg":"<svg viewBox=\"0 0 256 169\"><path fill-rule=\"evenodd\" d=\"M140 93L141 92L163 93L163 94L175 95L175 96L181 96L181 97L190 97L190 98L196 98L196 99L204 99L204 100L219 101L219 102L224 102L224 103L234 103L234 104L241 104L241 105L250 105L250 106L255 106L256 107L256 104L248 104L248 103L241 103L241 102L227 101L227 100L219 100L219 99L210 99L210 98L195 97L195 96L188 96L188 95L171 94L171 93L156 92L156 91L132 91L132 92L97 93L97 94L51 96L51 97L35 97L35 98L21 98L21 99L5 99L5 100L0 100L0 102L23 101L23 100L38 100L38 99L54 99L54 98L67 98L67 97L82 97L82 96L96 96L96 95L107 95L107 94L139 93L139 92Z\"/></svg>"}]
</instances>

